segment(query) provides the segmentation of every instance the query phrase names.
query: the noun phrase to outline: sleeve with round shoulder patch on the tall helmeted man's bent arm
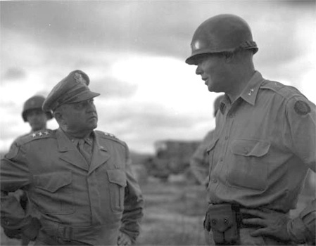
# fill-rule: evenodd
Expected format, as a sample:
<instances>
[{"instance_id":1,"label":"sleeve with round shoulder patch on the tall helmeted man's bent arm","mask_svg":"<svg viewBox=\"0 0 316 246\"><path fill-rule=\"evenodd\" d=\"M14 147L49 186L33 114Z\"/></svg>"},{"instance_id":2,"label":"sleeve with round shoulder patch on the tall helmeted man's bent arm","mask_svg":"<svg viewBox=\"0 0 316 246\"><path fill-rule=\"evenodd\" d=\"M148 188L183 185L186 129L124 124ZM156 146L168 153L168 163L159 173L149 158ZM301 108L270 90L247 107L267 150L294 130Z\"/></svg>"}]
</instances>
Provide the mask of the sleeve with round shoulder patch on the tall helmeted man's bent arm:
<instances>
[{"instance_id":1,"label":"sleeve with round shoulder patch on the tall helmeted man's bent arm","mask_svg":"<svg viewBox=\"0 0 316 246\"><path fill-rule=\"evenodd\" d=\"M316 164L316 107L303 96L295 96L286 105L287 124L284 127L286 146L304 164L315 171ZM287 224L286 229L297 243L315 245L316 202L313 200L301 214Z\"/></svg>"}]
</instances>

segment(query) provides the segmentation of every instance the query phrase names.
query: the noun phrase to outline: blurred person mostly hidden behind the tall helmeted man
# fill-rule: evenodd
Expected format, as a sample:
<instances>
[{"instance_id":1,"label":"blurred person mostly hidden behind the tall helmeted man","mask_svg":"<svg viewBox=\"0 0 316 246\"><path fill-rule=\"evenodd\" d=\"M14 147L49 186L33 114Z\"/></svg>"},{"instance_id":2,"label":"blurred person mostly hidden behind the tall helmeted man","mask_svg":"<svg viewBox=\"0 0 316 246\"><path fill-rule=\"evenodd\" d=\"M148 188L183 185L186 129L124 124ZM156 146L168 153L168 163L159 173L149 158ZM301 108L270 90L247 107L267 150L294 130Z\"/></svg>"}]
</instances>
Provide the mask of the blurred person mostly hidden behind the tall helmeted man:
<instances>
[{"instance_id":1,"label":"blurred person mostly hidden behind the tall helmeted man","mask_svg":"<svg viewBox=\"0 0 316 246\"><path fill-rule=\"evenodd\" d=\"M220 102L224 96L218 96L214 101L214 117L216 116L217 110L220 108ZM214 130L208 131L203 141L194 152L190 160L191 171L194 174L198 183L202 186L208 187L208 153L206 149L213 138Z\"/></svg>"}]
</instances>

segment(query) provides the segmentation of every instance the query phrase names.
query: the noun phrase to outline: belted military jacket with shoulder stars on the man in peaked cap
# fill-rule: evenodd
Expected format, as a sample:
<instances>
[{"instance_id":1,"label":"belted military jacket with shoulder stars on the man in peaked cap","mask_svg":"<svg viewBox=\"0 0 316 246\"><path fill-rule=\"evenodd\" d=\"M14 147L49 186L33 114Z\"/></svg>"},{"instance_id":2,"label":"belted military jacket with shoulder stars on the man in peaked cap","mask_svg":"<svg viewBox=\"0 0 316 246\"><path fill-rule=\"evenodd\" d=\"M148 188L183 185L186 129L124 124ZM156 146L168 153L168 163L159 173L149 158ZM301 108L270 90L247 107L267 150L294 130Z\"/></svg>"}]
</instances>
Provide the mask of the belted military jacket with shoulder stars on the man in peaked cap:
<instances>
[{"instance_id":1,"label":"belted military jacket with shoulder stars on the man in peaked cap","mask_svg":"<svg viewBox=\"0 0 316 246\"><path fill-rule=\"evenodd\" d=\"M41 233L91 245L116 245L119 229L133 240L139 234L143 199L129 150L102 131L94 131L90 164L61 129L20 138L1 160L1 219L8 228L27 223L6 195L18 189L39 210Z\"/></svg>"}]
</instances>

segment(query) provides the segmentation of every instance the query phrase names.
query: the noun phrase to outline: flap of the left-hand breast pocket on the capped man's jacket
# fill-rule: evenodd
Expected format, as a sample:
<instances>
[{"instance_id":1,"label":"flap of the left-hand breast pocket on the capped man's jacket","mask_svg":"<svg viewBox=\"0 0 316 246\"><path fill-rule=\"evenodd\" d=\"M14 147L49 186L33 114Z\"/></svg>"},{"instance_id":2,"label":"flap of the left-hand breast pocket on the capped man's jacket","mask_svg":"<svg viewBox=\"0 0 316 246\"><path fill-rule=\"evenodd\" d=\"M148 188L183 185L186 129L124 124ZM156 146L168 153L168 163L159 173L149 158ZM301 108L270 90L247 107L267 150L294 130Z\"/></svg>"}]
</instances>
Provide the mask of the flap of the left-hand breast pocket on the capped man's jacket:
<instances>
[{"instance_id":1,"label":"flap of the left-hand breast pocket on the capped man's jacket","mask_svg":"<svg viewBox=\"0 0 316 246\"><path fill-rule=\"evenodd\" d=\"M71 171L56 171L48 174L34 175L33 179L34 186L54 193L72 182L72 174Z\"/></svg>"}]
</instances>

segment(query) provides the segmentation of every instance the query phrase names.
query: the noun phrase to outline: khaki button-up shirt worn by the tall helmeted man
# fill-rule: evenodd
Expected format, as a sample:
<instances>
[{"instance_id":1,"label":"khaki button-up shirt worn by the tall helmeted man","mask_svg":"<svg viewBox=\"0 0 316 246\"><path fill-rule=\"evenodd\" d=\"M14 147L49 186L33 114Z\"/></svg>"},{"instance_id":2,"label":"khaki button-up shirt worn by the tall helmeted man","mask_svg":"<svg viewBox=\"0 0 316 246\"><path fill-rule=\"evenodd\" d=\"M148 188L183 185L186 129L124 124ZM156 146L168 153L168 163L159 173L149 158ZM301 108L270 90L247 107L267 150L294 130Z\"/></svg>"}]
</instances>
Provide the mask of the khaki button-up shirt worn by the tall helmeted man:
<instances>
[{"instance_id":1,"label":"khaki button-up shirt worn by the tall helmeted man","mask_svg":"<svg viewBox=\"0 0 316 246\"><path fill-rule=\"evenodd\" d=\"M315 105L297 89L255 72L241 96L234 103L225 96L217 112L209 202L296 208L308 169L315 171L315 119ZM309 211L315 229L315 207Z\"/></svg>"}]
</instances>

